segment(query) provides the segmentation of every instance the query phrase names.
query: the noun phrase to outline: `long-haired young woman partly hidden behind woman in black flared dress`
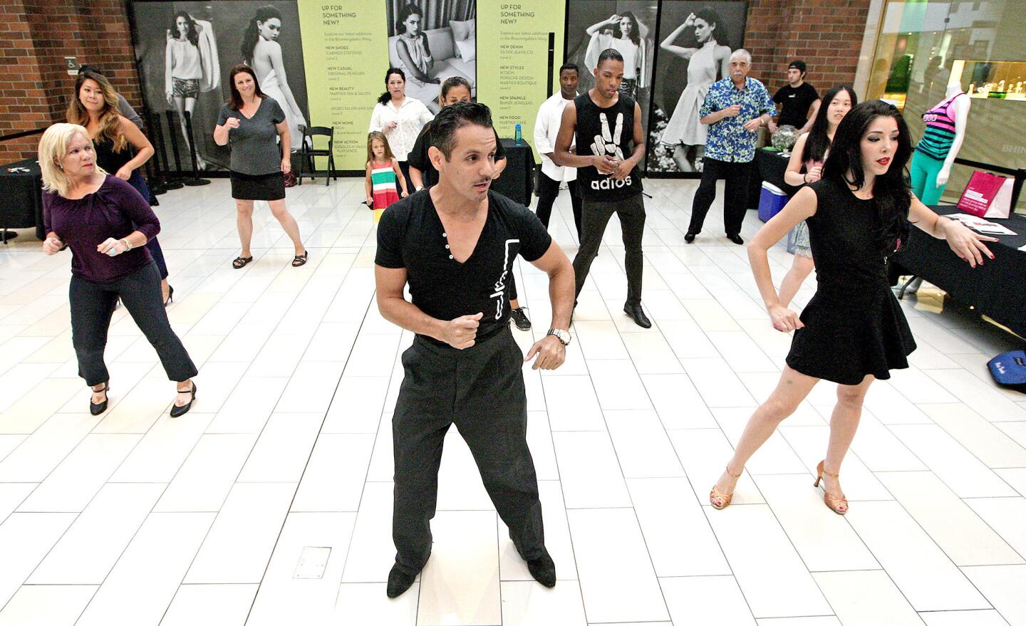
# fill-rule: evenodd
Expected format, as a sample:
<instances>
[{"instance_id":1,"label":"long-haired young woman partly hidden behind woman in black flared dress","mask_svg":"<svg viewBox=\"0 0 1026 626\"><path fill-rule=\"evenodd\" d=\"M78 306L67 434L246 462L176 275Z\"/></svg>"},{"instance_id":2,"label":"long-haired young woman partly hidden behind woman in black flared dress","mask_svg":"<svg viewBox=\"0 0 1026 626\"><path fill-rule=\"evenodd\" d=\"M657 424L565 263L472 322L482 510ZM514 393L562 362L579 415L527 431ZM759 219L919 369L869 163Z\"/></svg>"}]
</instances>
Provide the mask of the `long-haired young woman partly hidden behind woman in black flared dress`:
<instances>
[{"instance_id":1,"label":"long-haired young woman partly hidden behind woman in black flared dress","mask_svg":"<svg viewBox=\"0 0 1026 626\"><path fill-rule=\"evenodd\" d=\"M852 107L859 104L859 96L852 87L841 85L827 91L823 96L823 103L826 106L819 108L812 129L798 138L791 151L791 160L787 163L784 182L792 187L800 187L820 180L823 162L827 160L827 154L830 152L834 130ZM780 281L780 304L785 307L791 303L801 283L816 268L813 250L808 244L808 227L801 222L794 230L794 262L787 275Z\"/></svg>"}]
</instances>

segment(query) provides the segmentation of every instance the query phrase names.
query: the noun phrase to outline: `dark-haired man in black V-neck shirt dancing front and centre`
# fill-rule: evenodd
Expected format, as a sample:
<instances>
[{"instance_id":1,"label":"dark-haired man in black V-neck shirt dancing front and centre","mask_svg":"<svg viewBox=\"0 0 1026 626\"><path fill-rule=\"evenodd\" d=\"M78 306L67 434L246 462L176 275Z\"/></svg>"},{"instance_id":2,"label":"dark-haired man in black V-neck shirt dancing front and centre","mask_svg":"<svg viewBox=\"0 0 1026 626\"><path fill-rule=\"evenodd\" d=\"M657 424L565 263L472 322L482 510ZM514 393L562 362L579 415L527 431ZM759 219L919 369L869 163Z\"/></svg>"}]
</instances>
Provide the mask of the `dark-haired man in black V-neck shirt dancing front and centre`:
<instances>
[{"instance_id":1,"label":"dark-haired man in black V-neck shirt dancing front and centre","mask_svg":"<svg viewBox=\"0 0 1026 626\"><path fill-rule=\"evenodd\" d=\"M556 571L545 549L538 479L527 448L521 367L554 369L565 358L574 269L526 207L488 191L496 140L488 108L461 103L435 118L430 149L438 184L385 211L378 226L378 307L416 334L402 354L392 417L395 565L387 593L413 584L431 554L431 518L442 443L456 424L484 487L527 570L547 587ZM524 358L509 329L517 255L549 276L552 328ZM403 289L409 284L412 302Z\"/></svg>"}]
</instances>

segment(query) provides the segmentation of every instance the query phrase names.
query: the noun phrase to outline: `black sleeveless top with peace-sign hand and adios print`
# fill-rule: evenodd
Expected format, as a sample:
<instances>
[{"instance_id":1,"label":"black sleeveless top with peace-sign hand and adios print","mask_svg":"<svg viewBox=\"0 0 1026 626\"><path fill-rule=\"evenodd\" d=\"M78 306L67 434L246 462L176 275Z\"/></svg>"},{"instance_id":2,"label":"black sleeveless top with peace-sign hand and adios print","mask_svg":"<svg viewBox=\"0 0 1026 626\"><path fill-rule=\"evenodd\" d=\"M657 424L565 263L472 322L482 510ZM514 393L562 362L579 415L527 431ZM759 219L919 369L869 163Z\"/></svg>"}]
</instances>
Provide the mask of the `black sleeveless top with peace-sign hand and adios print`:
<instances>
[{"instance_id":1,"label":"black sleeveless top with peace-sign hand and adios print","mask_svg":"<svg viewBox=\"0 0 1026 626\"><path fill-rule=\"evenodd\" d=\"M608 154L620 160L634 152L634 99L620 93L617 104L601 108L587 91L574 100L577 109L575 142L579 156ZM599 173L594 165L578 167L581 197L595 202L616 202L641 193L641 175L637 165L631 175L616 181L611 174Z\"/></svg>"}]
</instances>

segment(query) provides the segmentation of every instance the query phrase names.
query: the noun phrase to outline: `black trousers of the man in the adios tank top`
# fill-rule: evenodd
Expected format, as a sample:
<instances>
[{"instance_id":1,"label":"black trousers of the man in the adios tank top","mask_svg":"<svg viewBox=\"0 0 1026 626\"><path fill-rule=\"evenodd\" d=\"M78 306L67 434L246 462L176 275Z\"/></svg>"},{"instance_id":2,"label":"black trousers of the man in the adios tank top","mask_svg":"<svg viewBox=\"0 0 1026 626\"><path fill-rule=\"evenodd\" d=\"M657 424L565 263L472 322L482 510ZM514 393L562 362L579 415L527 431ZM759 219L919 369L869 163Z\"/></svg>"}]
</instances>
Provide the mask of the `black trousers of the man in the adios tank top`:
<instances>
[{"instance_id":1,"label":"black trousers of the man in the adios tank top","mask_svg":"<svg viewBox=\"0 0 1026 626\"><path fill-rule=\"evenodd\" d=\"M581 247L574 258L574 274L577 278L577 295L581 295L584 281L588 278L591 264L598 256L602 235L613 213L620 217L626 253L627 304L641 304L641 274L644 257L641 255L641 236L644 233L644 200L641 194L624 198L618 202L596 202L585 199L582 212Z\"/></svg>"}]
</instances>

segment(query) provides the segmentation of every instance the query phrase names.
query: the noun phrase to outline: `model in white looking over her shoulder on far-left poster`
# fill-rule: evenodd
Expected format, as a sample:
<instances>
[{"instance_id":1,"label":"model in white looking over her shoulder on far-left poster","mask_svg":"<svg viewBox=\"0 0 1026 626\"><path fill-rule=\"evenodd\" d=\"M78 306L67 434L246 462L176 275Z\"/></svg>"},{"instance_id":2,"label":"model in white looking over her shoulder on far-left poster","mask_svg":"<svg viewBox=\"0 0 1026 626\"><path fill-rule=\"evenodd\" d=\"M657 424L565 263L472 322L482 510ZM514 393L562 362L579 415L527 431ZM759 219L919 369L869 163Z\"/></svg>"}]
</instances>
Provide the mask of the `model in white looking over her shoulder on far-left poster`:
<instances>
[{"instance_id":1,"label":"model in white looking over her shoulder on far-left poster","mask_svg":"<svg viewBox=\"0 0 1026 626\"><path fill-rule=\"evenodd\" d=\"M303 146L303 128L307 119L295 102L281 60L281 11L270 4L256 9L242 33L242 61L256 72L256 81L264 93L274 99L285 112L288 122L289 149Z\"/></svg>"}]
</instances>

